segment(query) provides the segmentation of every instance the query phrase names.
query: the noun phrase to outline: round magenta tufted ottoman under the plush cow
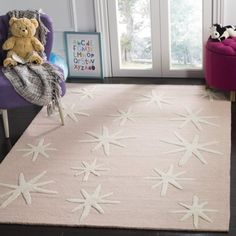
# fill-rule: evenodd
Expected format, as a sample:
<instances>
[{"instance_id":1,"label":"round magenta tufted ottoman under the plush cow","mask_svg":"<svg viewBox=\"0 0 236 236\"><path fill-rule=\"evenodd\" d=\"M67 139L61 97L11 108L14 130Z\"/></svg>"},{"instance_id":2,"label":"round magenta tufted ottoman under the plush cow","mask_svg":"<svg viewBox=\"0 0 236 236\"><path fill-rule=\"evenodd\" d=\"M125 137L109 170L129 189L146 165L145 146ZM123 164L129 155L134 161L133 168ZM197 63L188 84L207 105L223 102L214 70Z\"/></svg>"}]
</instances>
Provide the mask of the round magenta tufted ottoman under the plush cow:
<instances>
[{"instance_id":1,"label":"round magenta tufted ottoman under the plush cow","mask_svg":"<svg viewBox=\"0 0 236 236\"><path fill-rule=\"evenodd\" d=\"M205 79L210 87L230 91L235 100L236 91L236 37L222 42L210 39L206 44Z\"/></svg>"}]
</instances>

